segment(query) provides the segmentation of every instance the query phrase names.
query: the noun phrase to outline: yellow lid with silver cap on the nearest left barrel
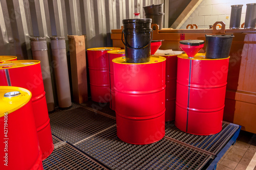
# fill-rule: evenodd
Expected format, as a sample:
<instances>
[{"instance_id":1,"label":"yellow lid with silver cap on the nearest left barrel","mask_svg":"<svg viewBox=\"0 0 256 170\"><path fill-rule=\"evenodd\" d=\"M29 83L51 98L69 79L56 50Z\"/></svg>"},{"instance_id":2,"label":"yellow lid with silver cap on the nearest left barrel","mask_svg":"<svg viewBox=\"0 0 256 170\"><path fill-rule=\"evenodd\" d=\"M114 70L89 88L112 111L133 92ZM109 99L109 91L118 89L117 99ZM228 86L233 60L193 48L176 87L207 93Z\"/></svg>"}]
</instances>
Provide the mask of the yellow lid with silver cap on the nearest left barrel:
<instances>
[{"instance_id":1,"label":"yellow lid with silver cap on the nearest left barrel","mask_svg":"<svg viewBox=\"0 0 256 170\"><path fill-rule=\"evenodd\" d=\"M0 117L26 105L31 99L31 95L31 92L25 88L0 86Z\"/></svg>"}]
</instances>

